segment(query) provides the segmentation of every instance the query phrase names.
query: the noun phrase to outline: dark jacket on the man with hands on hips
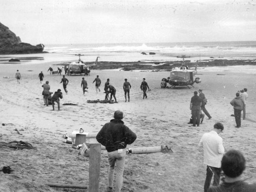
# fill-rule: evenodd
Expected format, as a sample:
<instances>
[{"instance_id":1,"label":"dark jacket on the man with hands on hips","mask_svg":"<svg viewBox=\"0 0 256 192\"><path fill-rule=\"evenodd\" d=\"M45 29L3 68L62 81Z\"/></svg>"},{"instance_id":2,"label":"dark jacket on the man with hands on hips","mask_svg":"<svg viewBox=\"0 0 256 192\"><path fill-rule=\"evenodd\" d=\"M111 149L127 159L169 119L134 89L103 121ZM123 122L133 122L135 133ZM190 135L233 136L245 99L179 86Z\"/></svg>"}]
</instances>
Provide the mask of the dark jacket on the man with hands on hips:
<instances>
[{"instance_id":1,"label":"dark jacket on the man with hands on hips","mask_svg":"<svg viewBox=\"0 0 256 192\"><path fill-rule=\"evenodd\" d=\"M96 136L97 141L106 146L108 152L124 149L127 144L132 144L136 138L136 134L124 125L122 120L118 119L112 119L106 123Z\"/></svg>"}]
</instances>

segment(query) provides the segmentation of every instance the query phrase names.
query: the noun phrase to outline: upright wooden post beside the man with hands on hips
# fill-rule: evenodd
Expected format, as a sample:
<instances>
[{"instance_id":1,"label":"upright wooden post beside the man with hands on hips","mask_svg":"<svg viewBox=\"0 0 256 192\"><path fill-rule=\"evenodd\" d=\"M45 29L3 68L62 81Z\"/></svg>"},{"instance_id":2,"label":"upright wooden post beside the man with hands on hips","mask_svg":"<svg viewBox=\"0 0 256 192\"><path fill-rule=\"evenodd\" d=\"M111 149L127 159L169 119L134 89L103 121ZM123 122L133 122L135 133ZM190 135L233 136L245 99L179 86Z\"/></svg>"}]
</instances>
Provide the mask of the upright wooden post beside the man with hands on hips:
<instances>
[{"instance_id":1,"label":"upright wooden post beside the man with hands on hips","mask_svg":"<svg viewBox=\"0 0 256 192\"><path fill-rule=\"evenodd\" d=\"M101 144L90 144L89 192L99 192L100 189L100 153Z\"/></svg>"}]
</instances>

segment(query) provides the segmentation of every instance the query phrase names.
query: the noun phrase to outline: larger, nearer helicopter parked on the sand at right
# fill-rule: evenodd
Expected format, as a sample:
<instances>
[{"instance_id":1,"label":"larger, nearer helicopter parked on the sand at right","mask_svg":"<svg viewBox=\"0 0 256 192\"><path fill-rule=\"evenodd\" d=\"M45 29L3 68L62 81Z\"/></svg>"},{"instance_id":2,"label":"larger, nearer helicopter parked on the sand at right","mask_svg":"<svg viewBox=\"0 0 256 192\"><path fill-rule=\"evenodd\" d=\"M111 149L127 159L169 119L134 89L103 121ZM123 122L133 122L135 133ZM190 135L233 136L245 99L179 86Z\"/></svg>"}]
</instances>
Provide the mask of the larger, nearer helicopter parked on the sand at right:
<instances>
[{"instance_id":1,"label":"larger, nearer helicopter parked on the sand at right","mask_svg":"<svg viewBox=\"0 0 256 192\"><path fill-rule=\"evenodd\" d=\"M187 86L189 89L189 85L192 87L194 83L201 83L200 78L195 78L194 81L194 76L197 74L197 62L195 65L195 69L192 70L188 66L184 64L184 57L183 57L183 64L180 67L175 67L171 73L170 73L170 79L168 83L172 87L176 86Z\"/></svg>"}]
</instances>

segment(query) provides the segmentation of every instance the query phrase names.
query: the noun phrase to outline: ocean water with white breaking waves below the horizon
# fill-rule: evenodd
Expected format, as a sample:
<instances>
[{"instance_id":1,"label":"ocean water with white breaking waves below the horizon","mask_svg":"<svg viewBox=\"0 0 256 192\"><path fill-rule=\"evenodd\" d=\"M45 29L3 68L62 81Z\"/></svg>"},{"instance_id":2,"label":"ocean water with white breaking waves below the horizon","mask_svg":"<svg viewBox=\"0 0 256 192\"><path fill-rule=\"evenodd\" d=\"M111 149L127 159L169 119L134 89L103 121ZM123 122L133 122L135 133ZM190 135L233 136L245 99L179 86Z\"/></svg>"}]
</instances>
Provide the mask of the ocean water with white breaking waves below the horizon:
<instances>
[{"instance_id":1,"label":"ocean water with white breaking waves below the horizon","mask_svg":"<svg viewBox=\"0 0 256 192\"><path fill-rule=\"evenodd\" d=\"M119 43L119 44L45 44L48 54L29 55L0 55L0 57L43 57L43 60L34 63L46 63L52 61L76 61L82 54L81 60L85 62L95 61L181 61L177 56L186 55L190 60L210 59L256 59L256 41L232 41L232 42L170 42L170 43ZM141 54L147 53L147 55ZM149 55L149 52L156 53ZM211 58L210 58L211 57ZM213 57L213 58L212 58ZM0 61L1 63L2 61ZM23 61L31 63L31 61Z\"/></svg>"}]
</instances>

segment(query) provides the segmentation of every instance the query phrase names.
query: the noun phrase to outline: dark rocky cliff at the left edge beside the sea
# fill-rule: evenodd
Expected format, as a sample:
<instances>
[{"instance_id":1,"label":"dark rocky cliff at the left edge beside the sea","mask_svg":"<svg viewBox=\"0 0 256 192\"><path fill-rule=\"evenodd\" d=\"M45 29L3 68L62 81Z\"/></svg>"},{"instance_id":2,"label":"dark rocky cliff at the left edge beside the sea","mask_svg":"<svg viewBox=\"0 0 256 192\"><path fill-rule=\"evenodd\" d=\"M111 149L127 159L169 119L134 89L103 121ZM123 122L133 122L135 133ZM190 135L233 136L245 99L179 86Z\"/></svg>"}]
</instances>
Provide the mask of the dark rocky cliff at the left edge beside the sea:
<instances>
[{"instance_id":1,"label":"dark rocky cliff at the left edge beside the sea","mask_svg":"<svg viewBox=\"0 0 256 192\"><path fill-rule=\"evenodd\" d=\"M43 44L33 46L20 41L9 28L0 23L0 54L34 54L45 53Z\"/></svg>"}]
</instances>

